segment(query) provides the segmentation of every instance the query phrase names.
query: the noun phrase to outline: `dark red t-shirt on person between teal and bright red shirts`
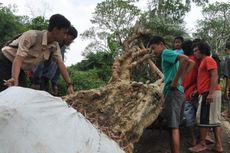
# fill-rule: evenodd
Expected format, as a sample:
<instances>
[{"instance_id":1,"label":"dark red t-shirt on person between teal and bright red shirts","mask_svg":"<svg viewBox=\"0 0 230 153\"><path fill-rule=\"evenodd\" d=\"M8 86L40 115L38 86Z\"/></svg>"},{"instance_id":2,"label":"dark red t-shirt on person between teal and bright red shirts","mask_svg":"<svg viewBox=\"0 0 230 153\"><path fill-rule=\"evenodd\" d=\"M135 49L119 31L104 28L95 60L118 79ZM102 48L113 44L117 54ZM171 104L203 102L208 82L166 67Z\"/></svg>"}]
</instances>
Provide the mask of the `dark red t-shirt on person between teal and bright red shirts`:
<instances>
[{"instance_id":1,"label":"dark red t-shirt on person between teal and bright red shirts","mask_svg":"<svg viewBox=\"0 0 230 153\"><path fill-rule=\"evenodd\" d=\"M187 75L182 80L182 86L184 87L184 93L186 96L186 101L191 100L191 93L197 90L197 75L200 61L197 60L194 55L190 55L189 59L195 62L193 68L187 73Z\"/></svg>"}]
</instances>

